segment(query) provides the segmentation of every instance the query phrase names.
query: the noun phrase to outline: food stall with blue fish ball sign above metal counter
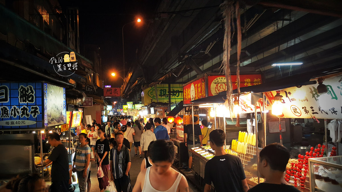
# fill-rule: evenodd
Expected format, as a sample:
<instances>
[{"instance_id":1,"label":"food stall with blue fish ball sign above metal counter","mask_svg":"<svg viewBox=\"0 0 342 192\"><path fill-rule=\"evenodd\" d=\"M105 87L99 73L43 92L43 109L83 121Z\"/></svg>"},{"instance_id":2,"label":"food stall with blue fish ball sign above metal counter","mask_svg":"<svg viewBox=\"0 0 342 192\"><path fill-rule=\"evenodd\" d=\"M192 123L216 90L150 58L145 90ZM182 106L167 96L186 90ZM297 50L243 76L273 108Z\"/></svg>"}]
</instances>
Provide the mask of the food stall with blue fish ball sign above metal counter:
<instances>
[{"instance_id":1,"label":"food stall with blue fish ball sign above metal counter","mask_svg":"<svg viewBox=\"0 0 342 192\"><path fill-rule=\"evenodd\" d=\"M1 179L10 179L20 171L38 173L48 180L49 167L36 165L48 157L43 153L47 147L45 142L43 145L45 129L66 123L65 88L47 82L5 82L0 83L0 92L0 129L5 133L1 135L0 150L12 153L2 155L12 160L0 160Z\"/></svg>"}]
</instances>

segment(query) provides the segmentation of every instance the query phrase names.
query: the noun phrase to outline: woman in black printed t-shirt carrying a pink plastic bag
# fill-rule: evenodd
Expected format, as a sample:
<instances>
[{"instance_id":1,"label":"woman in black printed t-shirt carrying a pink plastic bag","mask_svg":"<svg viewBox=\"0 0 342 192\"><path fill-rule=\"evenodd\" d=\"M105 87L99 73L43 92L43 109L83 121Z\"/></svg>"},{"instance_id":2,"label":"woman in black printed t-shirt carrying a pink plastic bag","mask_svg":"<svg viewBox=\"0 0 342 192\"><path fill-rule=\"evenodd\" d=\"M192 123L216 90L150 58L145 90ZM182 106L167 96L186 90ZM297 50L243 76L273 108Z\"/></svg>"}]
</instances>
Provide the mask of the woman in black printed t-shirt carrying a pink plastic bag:
<instances>
[{"instance_id":1,"label":"woman in black printed t-shirt carrying a pink plastic bag","mask_svg":"<svg viewBox=\"0 0 342 192\"><path fill-rule=\"evenodd\" d=\"M108 186L108 165L109 165L109 141L105 137L105 131L101 127L97 130L97 134L100 137L96 141L95 145L95 153L97 157L97 165L102 168L103 170L103 177L102 178L97 178L98 180L98 187L100 188L101 191L106 189Z\"/></svg>"}]
</instances>

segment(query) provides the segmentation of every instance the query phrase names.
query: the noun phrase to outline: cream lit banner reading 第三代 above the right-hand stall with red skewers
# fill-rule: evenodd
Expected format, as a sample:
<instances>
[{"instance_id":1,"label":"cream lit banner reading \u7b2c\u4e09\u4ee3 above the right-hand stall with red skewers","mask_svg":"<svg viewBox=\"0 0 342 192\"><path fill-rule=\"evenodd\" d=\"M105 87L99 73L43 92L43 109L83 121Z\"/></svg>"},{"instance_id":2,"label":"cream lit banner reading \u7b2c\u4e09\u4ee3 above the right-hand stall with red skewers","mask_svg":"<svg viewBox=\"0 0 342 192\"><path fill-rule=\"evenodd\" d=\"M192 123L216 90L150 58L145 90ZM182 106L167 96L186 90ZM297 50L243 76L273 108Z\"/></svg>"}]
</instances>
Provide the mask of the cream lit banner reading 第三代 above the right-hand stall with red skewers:
<instances>
[{"instance_id":1,"label":"cream lit banner reading \u7b2c\u4e09\u4ee3 above the right-hand stall with red skewers","mask_svg":"<svg viewBox=\"0 0 342 192\"><path fill-rule=\"evenodd\" d=\"M342 76L327 78L323 81L328 92L319 95L317 86L303 85L280 90L282 97L283 118L313 118L341 119L342 118ZM273 104L275 91L266 92L267 99ZM319 100L321 99L321 100Z\"/></svg>"}]
</instances>

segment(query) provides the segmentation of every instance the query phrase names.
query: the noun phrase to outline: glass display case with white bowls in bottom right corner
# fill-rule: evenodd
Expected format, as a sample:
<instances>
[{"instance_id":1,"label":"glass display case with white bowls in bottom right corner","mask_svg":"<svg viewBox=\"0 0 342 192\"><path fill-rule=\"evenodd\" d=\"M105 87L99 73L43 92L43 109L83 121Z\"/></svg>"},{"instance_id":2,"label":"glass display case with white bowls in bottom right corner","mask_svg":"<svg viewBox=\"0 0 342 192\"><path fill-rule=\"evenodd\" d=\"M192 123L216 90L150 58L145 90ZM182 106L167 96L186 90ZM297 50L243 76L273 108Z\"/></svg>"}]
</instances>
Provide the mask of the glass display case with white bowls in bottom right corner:
<instances>
[{"instance_id":1,"label":"glass display case with white bowls in bottom right corner","mask_svg":"<svg viewBox=\"0 0 342 192\"><path fill-rule=\"evenodd\" d=\"M308 160L310 191L342 191L342 156Z\"/></svg>"}]
</instances>

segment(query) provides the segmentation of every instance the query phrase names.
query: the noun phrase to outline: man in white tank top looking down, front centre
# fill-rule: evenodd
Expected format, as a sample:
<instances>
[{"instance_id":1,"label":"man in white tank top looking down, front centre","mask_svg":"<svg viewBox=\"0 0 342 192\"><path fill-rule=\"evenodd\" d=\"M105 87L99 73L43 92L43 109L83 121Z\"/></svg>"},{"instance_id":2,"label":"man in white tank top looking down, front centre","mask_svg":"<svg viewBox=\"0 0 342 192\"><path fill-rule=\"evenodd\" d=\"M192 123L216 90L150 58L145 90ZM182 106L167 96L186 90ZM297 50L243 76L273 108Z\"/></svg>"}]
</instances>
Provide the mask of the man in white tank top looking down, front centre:
<instances>
[{"instance_id":1,"label":"man in white tank top looking down, front centre","mask_svg":"<svg viewBox=\"0 0 342 192\"><path fill-rule=\"evenodd\" d=\"M184 175L171 168L176 156L172 141L154 141L148 153L154 165L139 173L133 192L189 191Z\"/></svg>"}]
</instances>

